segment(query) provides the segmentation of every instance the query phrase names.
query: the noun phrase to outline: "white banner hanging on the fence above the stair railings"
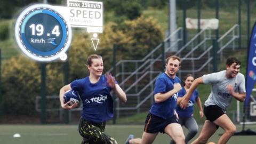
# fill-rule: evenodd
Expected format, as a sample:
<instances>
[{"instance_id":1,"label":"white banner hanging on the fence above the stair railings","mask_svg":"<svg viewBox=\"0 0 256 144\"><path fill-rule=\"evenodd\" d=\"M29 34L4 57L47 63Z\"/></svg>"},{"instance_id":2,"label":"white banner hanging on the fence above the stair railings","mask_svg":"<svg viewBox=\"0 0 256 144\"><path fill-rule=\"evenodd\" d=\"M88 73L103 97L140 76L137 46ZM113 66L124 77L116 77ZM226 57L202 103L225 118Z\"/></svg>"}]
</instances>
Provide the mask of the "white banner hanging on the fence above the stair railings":
<instances>
[{"instance_id":1,"label":"white banner hanging on the fence above the stair railings","mask_svg":"<svg viewBox=\"0 0 256 144\"><path fill-rule=\"evenodd\" d=\"M201 29L218 29L219 20L218 19L200 19ZM197 29L198 19L186 18L186 28L187 29Z\"/></svg>"}]
</instances>

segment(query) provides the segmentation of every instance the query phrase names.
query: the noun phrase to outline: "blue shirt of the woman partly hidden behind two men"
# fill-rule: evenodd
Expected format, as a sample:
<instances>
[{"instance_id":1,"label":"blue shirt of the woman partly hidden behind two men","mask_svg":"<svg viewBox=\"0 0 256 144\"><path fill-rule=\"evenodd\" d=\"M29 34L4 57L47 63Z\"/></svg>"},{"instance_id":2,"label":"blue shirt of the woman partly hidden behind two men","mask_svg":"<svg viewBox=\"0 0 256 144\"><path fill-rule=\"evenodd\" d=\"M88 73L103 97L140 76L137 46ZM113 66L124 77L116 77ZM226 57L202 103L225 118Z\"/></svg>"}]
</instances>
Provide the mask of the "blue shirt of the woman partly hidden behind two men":
<instances>
[{"instance_id":1,"label":"blue shirt of the woman partly hidden behind two men","mask_svg":"<svg viewBox=\"0 0 256 144\"><path fill-rule=\"evenodd\" d=\"M178 97L183 97L185 94L186 94L185 87L182 87L182 89L178 92ZM179 105L177 106L176 111L177 111L179 117L193 116L194 103L196 102L197 98L198 98L198 91L195 90L189 99L187 108L182 109Z\"/></svg>"}]
</instances>

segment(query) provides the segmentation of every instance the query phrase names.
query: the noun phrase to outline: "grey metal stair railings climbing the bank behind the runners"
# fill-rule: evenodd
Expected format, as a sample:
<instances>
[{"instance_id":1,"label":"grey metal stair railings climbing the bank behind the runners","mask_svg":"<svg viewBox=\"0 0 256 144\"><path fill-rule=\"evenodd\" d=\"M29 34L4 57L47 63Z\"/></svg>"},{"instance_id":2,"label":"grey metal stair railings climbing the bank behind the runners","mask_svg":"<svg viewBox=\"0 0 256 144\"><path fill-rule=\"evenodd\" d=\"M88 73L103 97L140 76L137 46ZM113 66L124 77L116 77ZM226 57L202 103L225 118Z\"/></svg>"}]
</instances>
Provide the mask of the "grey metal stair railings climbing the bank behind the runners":
<instances>
[{"instance_id":1,"label":"grey metal stair railings climbing the bank behind the runners","mask_svg":"<svg viewBox=\"0 0 256 144\"><path fill-rule=\"evenodd\" d=\"M197 39L201 38L201 42L198 44ZM211 30L201 30L198 34L196 34L193 38L190 39L190 41L182 46L179 51L175 52L174 55L182 55L182 52L185 50L193 50L193 47L199 47L202 46L204 43L206 43L207 41L209 41L211 39ZM173 44L175 45L175 44ZM159 44L157 49L159 49L159 47L164 46L164 43ZM177 44L176 44L177 46ZM205 47L206 49L206 47ZM168 50L165 50L165 53L168 52ZM149 53L147 55L147 58L149 58L149 55L152 55L153 53ZM162 62L162 54L158 54L158 56L156 58L152 58L152 59L147 59L145 62L142 63L142 65L140 65L140 67L137 67L133 72L127 73L126 71L123 71L123 69L121 69L121 72L117 73L119 75L127 75L124 79L122 79L123 81L119 84L124 88L124 91L126 92L127 97L137 97L137 105L136 106L129 106L128 105L123 105L121 106L118 99L116 99L117 101L117 117L119 116L119 110L134 110L137 109L137 111L139 111L138 109L140 109L140 107L143 105L143 103L145 101L147 101L149 98L153 98L153 90L154 90L154 82L155 79L157 78L158 74L161 73L162 69L156 69L154 68L154 65L157 64L157 62ZM145 60L145 59L143 59ZM125 61L125 60L123 60ZM129 60L127 60L129 61ZM130 62L134 62L134 61L130 61ZM148 72L150 71L150 73ZM155 74L155 75L153 75ZM136 76L139 75L139 76ZM135 81L132 81L132 83L129 83L129 85L126 87L124 86L127 82L130 82L132 78L135 78ZM147 83L145 83L145 87L143 87L143 89L141 89L140 91L137 91L136 89L138 85L143 84L143 81L145 81L145 79L149 79L149 81L147 81ZM147 88L150 88L150 93L147 93L147 97L145 97L143 100L139 100L141 99L141 93L148 91ZM135 90L133 90L135 89ZM130 91L130 92L129 92ZM151 102L153 102L153 100L151 100ZM134 103L134 101L133 101Z\"/></svg>"}]
</instances>

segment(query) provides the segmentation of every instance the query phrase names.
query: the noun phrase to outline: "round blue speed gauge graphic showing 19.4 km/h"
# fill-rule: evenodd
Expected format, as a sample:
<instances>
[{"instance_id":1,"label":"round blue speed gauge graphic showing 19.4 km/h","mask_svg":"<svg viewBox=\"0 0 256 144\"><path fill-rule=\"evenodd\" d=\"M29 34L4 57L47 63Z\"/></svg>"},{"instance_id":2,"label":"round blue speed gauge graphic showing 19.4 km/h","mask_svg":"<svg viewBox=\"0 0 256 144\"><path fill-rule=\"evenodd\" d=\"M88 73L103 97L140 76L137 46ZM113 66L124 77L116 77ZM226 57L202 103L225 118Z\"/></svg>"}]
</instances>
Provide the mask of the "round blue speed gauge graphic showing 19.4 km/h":
<instances>
[{"instance_id":1,"label":"round blue speed gauge graphic showing 19.4 km/h","mask_svg":"<svg viewBox=\"0 0 256 144\"><path fill-rule=\"evenodd\" d=\"M15 24L15 38L28 57L52 61L63 57L71 42L71 28L51 5L25 9Z\"/></svg>"}]
</instances>

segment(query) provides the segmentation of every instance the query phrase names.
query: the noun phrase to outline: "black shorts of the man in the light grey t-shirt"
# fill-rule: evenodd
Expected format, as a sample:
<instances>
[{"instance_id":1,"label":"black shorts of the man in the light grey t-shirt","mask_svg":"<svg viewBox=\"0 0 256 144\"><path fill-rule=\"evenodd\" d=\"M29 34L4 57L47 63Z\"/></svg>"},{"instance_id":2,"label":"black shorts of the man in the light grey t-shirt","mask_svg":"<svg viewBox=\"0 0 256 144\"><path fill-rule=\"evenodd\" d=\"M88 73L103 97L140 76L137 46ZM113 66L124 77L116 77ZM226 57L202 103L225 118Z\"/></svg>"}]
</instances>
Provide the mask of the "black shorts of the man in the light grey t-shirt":
<instances>
[{"instance_id":1,"label":"black shorts of the man in the light grey t-shirt","mask_svg":"<svg viewBox=\"0 0 256 144\"><path fill-rule=\"evenodd\" d=\"M215 121L217 118L219 118L223 114L225 113L219 106L216 106L216 105L210 105L207 107L204 106L204 115L206 119L211 122Z\"/></svg>"}]
</instances>

